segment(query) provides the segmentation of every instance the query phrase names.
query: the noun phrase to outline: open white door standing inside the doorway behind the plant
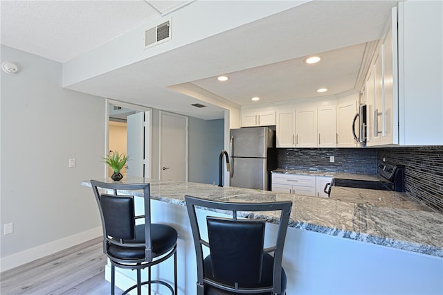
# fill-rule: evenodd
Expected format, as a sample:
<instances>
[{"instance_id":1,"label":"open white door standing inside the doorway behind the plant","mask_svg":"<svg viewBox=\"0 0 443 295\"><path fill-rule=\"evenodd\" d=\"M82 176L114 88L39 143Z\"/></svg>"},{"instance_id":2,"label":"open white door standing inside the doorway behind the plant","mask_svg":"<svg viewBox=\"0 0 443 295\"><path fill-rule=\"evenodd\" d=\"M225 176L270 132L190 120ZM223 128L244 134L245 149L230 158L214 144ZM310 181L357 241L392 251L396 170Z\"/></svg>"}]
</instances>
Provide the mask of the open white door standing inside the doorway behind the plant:
<instances>
[{"instance_id":1,"label":"open white door standing inside the doorway behind the plant","mask_svg":"<svg viewBox=\"0 0 443 295\"><path fill-rule=\"evenodd\" d=\"M127 116L127 177L144 177L145 112Z\"/></svg>"}]
</instances>

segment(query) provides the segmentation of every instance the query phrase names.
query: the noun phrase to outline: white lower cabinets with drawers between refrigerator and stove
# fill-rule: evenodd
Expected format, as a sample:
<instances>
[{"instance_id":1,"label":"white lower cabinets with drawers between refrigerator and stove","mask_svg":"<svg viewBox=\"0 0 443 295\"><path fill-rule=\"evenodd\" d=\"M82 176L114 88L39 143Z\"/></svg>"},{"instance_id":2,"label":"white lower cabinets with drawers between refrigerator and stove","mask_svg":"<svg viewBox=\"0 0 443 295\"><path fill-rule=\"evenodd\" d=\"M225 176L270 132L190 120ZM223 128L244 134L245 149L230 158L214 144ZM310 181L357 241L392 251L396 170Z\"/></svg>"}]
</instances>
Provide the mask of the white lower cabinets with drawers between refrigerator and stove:
<instances>
[{"instance_id":1,"label":"white lower cabinets with drawers between refrigerator and stove","mask_svg":"<svg viewBox=\"0 0 443 295\"><path fill-rule=\"evenodd\" d=\"M326 178L329 179L329 182L332 179L332 177L325 177L325 180ZM271 187L272 191L276 193L287 193L287 194L307 195L307 196L318 195L316 176L311 176L311 175L287 175L282 173L273 173ZM323 186L323 188L324 187L325 186ZM322 192L323 188L321 188ZM324 197L324 195L321 194L319 194L318 196Z\"/></svg>"}]
</instances>

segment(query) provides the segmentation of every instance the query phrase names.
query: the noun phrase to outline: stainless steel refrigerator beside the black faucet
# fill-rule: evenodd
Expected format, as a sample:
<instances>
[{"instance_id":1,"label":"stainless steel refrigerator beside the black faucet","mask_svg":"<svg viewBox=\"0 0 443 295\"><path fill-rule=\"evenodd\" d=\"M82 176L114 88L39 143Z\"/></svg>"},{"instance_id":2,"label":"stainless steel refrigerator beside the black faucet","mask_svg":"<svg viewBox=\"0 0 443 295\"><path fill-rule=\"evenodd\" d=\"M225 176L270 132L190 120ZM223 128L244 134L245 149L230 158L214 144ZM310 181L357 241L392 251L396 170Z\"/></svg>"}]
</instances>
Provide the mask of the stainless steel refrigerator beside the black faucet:
<instances>
[{"instance_id":1,"label":"stainless steel refrigerator beside the black faucet","mask_svg":"<svg viewBox=\"0 0 443 295\"><path fill-rule=\"evenodd\" d=\"M230 186L271 190L270 171L277 166L275 130L230 129Z\"/></svg>"}]
</instances>

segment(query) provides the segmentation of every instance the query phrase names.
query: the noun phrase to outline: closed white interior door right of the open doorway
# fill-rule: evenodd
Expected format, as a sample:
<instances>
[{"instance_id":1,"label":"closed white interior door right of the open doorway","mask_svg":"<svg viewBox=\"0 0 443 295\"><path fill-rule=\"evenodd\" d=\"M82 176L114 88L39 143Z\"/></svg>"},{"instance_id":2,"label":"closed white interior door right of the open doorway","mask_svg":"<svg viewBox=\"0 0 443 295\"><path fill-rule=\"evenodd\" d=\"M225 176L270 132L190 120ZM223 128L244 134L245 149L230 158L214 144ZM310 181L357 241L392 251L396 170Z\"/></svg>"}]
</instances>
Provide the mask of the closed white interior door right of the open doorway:
<instances>
[{"instance_id":1,"label":"closed white interior door right of the open doorway","mask_svg":"<svg viewBox=\"0 0 443 295\"><path fill-rule=\"evenodd\" d=\"M160 179L188 181L188 117L160 112Z\"/></svg>"}]
</instances>

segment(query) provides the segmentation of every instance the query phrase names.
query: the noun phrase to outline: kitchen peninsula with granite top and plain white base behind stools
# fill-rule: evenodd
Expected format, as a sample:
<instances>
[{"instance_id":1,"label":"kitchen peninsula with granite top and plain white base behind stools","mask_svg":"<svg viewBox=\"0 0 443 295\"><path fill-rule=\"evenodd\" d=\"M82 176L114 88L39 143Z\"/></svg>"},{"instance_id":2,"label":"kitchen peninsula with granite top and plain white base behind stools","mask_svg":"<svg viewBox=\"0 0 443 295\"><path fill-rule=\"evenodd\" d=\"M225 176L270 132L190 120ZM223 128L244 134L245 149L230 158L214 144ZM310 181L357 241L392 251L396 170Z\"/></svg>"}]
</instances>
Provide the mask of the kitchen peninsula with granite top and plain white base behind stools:
<instances>
[{"instance_id":1,"label":"kitchen peninsula with granite top and plain white base behind stools","mask_svg":"<svg viewBox=\"0 0 443 295\"><path fill-rule=\"evenodd\" d=\"M152 220L171 224L179 231L182 294L192 294L195 288L195 253L185 195L224 202L291 200L284 248L284 267L292 278L288 294L356 294L356 288L370 294L443 291L441 213L210 184L124 181L150 182ZM89 181L82 185L90 186ZM273 226L273 216L266 216L266 220ZM318 284L320 277L322 284Z\"/></svg>"}]
</instances>

